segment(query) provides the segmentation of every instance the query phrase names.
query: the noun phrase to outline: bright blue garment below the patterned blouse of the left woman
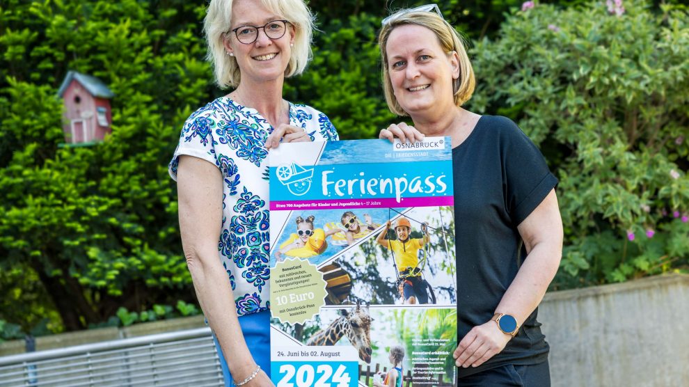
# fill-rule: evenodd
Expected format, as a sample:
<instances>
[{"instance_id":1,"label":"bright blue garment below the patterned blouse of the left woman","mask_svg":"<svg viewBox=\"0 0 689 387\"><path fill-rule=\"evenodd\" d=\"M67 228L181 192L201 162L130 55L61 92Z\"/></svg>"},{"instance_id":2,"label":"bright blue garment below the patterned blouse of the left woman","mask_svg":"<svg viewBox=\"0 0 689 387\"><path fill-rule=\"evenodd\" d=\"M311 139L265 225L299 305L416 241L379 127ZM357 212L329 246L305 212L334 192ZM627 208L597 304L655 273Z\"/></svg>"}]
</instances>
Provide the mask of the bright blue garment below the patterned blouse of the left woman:
<instances>
[{"instance_id":1,"label":"bright blue garment below the patterned blouse of the left woman","mask_svg":"<svg viewBox=\"0 0 689 387\"><path fill-rule=\"evenodd\" d=\"M240 316L239 326L241 326L241 333L244 333L244 341L246 341L253 360L270 377L270 311L265 310L264 312ZM215 335L213 335L213 341L215 342L215 348L218 350L220 367L223 369L223 377L225 378L225 386L234 387L235 382L232 381L228 362L225 360L223 350L220 348ZM232 355L230 354L230 356Z\"/></svg>"}]
</instances>

